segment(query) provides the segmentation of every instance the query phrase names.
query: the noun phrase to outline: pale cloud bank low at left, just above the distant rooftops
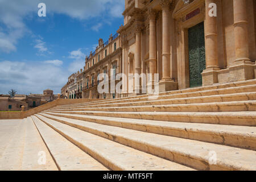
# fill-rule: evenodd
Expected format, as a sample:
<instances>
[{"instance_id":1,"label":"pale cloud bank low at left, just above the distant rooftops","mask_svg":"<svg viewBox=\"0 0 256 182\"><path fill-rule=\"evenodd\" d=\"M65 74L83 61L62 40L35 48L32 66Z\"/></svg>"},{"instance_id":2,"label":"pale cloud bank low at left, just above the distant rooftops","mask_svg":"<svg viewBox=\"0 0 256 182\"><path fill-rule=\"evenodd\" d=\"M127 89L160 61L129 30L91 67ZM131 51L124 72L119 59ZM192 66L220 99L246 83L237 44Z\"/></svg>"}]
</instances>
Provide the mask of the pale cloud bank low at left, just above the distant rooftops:
<instances>
[{"instance_id":1,"label":"pale cloud bank low at left, just above the distant rooftops","mask_svg":"<svg viewBox=\"0 0 256 182\"><path fill-rule=\"evenodd\" d=\"M69 73L55 64L43 64L40 61L28 63L21 61L0 61L0 93L15 89L18 93L42 93L52 89L56 94L67 82Z\"/></svg>"}]
</instances>

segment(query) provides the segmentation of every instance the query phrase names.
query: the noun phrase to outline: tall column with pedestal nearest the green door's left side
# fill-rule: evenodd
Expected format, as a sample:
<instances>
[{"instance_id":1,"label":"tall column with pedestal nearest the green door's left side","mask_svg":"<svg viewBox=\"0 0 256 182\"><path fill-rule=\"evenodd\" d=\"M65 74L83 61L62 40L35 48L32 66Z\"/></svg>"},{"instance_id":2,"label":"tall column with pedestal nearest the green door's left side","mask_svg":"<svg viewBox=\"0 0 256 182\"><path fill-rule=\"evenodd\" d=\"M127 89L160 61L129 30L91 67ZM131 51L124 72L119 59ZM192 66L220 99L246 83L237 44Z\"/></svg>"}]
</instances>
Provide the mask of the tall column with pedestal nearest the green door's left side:
<instances>
[{"instance_id":1,"label":"tall column with pedestal nearest the green door's left side","mask_svg":"<svg viewBox=\"0 0 256 182\"><path fill-rule=\"evenodd\" d=\"M177 82L171 80L171 68L170 68L170 1L162 0L160 1L162 6L162 18L163 18L163 53L162 53L162 63L163 63L163 77L159 82L159 92L166 92L169 90L177 89Z\"/></svg>"}]
</instances>

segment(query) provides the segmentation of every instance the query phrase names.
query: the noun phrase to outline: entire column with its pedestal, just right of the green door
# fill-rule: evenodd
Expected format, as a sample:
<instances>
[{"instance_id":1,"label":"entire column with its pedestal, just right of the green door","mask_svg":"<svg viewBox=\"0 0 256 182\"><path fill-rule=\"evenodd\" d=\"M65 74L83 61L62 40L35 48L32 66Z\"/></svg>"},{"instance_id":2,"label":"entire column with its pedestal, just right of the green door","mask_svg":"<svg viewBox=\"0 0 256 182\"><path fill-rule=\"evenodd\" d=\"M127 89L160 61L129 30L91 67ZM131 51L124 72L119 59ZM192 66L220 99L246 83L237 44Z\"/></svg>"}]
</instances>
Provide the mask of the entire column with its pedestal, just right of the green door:
<instances>
[{"instance_id":1,"label":"entire column with its pedestal, just right of the green door","mask_svg":"<svg viewBox=\"0 0 256 182\"><path fill-rule=\"evenodd\" d=\"M212 85L218 82L218 44L217 44L217 16L209 16L210 3L217 3L216 0L205 0L205 61L206 69L202 73L203 86Z\"/></svg>"}]
</instances>

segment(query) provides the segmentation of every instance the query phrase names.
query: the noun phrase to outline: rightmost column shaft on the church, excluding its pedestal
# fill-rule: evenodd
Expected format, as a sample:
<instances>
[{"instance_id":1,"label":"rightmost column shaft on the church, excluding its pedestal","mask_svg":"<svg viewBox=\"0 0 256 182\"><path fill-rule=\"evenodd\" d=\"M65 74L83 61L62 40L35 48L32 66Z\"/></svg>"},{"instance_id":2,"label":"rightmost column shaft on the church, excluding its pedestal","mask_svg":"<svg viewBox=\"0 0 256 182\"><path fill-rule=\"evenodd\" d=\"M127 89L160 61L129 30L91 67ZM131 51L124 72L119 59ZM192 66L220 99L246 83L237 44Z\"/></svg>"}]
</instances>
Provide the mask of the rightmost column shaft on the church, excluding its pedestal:
<instances>
[{"instance_id":1,"label":"rightmost column shaft on the church, excluding its pedestal","mask_svg":"<svg viewBox=\"0 0 256 182\"><path fill-rule=\"evenodd\" d=\"M233 0L236 60L249 61L248 22L245 0Z\"/></svg>"}]
</instances>

